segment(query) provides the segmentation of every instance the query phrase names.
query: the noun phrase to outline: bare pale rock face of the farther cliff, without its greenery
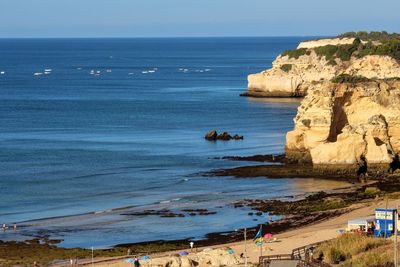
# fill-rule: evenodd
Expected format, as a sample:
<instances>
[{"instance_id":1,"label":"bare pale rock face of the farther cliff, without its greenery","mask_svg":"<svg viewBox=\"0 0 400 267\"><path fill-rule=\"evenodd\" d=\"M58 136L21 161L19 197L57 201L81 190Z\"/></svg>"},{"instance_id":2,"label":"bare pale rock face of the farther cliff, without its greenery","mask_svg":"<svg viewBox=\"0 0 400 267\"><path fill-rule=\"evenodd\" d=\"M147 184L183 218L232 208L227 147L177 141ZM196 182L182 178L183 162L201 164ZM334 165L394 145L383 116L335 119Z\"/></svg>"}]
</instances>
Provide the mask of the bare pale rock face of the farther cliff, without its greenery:
<instances>
[{"instance_id":1,"label":"bare pale rock face of the farther cliff, without its greenery","mask_svg":"<svg viewBox=\"0 0 400 267\"><path fill-rule=\"evenodd\" d=\"M278 56L271 69L248 76L246 95L255 97L305 96L313 82L329 81L346 73L371 79L400 77L400 64L389 56L369 55L352 57L348 61L340 58L326 60L313 49L325 45L348 45L354 38L322 39L300 43L298 48L309 49L303 55Z\"/></svg>"}]
</instances>

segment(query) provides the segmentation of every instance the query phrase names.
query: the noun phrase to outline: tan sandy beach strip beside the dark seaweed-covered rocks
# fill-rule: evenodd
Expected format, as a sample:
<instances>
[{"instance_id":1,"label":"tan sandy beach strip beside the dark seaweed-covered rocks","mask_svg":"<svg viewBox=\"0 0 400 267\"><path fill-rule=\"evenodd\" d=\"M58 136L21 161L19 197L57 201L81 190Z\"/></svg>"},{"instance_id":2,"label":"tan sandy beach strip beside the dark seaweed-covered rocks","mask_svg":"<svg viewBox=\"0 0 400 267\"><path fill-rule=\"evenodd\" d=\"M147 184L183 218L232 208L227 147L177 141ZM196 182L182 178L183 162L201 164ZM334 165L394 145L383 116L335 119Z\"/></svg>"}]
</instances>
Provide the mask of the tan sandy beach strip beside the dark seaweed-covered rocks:
<instances>
[{"instance_id":1,"label":"tan sandy beach strip beside the dark seaweed-covered rocks","mask_svg":"<svg viewBox=\"0 0 400 267\"><path fill-rule=\"evenodd\" d=\"M330 239L336 238L340 236L338 230L342 230L345 228L347 221L352 218L365 217L373 214L373 211L376 207L384 205L384 199L374 199L367 201L365 203L357 203L352 205L347 212L335 216L330 217L326 220L322 220L319 222L315 222L312 224L304 225L302 227L288 229L281 233L274 235L277 238L277 242L266 243L263 247L263 255L277 255L277 254L290 254L291 251L297 247L305 246L311 243L316 242L324 242ZM396 197L395 199L390 199L389 206L396 206L400 204L400 199ZM241 234L243 234L241 232ZM252 236L248 233L248 241L247 241L247 253L249 264L257 264L258 257L260 253L259 247L254 245L254 242L251 240ZM201 246L198 244L196 246L195 252L190 252L191 255L195 255L199 251L203 251L204 249L221 249L221 248L230 248L235 251L235 254L239 255L244 252L245 243L244 241L228 241L216 245L205 245ZM181 249L182 250L182 249ZM165 258L171 257L177 252L181 251L170 250L165 252L151 253L149 254L152 259L155 258ZM186 244L185 250L188 250L188 245ZM132 256L130 256L132 257ZM129 264L125 263L124 259L130 258L129 256L119 256L119 257L111 257L111 258L95 258L94 265L98 267L102 266L129 266ZM80 262L82 265L90 265L90 260L82 260ZM60 266L60 265L53 265Z\"/></svg>"}]
</instances>

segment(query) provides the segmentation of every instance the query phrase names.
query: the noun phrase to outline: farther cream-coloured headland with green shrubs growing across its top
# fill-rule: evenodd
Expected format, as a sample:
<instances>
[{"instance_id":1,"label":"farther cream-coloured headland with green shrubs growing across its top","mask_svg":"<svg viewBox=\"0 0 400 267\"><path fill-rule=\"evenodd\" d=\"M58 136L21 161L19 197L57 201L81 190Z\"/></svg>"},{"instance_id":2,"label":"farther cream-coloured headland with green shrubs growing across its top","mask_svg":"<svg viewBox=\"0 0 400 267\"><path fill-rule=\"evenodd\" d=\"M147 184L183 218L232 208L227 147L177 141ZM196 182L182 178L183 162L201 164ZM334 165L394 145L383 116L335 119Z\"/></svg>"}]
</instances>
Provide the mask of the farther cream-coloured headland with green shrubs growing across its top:
<instances>
[{"instance_id":1,"label":"farther cream-coloured headland with green shrubs growing across its top","mask_svg":"<svg viewBox=\"0 0 400 267\"><path fill-rule=\"evenodd\" d=\"M377 45L379 42L367 43L355 38L302 42L296 50L279 55L272 68L250 74L248 90L243 95L302 97L313 83L329 81L342 73L370 79L400 77L399 62L385 55L390 53L386 50L380 52L379 48L375 51L373 48Z\"/></svg>"}]
</instances>

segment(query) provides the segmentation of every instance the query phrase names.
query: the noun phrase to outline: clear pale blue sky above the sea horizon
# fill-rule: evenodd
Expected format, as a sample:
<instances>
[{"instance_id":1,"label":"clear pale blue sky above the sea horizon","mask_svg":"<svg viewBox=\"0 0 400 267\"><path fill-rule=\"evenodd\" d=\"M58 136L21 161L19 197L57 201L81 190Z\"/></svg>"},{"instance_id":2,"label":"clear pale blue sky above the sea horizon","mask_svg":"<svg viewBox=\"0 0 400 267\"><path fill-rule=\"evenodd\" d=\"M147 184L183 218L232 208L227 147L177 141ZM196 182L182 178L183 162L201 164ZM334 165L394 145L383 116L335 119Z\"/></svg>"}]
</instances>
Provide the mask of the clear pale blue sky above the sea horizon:
<instances>
[{"instance_id":1,"label":"clear pale blue sky above the sea horizon","mask_svg":"<svg viewBox=\"0 0 400 267\"><path fill-rule=\"evenodd\" d=\"M0 0L0 37L400 32L400 0Z\"/></svg>"}]
</instances>

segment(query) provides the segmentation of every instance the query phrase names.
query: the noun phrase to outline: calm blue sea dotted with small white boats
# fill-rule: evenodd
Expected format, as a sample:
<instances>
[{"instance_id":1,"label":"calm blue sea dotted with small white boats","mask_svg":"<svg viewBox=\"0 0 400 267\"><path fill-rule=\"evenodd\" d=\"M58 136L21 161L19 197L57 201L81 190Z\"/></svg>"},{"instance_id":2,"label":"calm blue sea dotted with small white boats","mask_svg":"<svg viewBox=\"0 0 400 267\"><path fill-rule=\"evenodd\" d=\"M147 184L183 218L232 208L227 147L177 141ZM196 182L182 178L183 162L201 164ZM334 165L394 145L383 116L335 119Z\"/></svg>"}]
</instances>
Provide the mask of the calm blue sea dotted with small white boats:
<instances>
[{"instance_id":1,"label":"calm blue sea dotted with small white boats","mask_svg":"<svg viewBox=\"0 0 400 267\"><path fill-rule=\"evenodd\" d=\"M302 39L1 39L0 223L22 227L0 239L201 238L261 221L235 200L327 186L199 175L252 164L214 157L283 152L298 101L239 94L248 74ZM245 139L207 142L211 129ZM121 215L205 207L217 214Z\"/></svg>"}]
</instances>

